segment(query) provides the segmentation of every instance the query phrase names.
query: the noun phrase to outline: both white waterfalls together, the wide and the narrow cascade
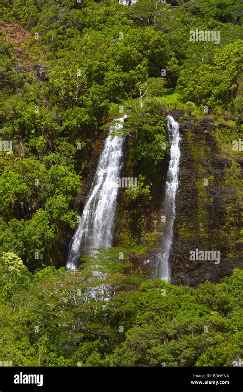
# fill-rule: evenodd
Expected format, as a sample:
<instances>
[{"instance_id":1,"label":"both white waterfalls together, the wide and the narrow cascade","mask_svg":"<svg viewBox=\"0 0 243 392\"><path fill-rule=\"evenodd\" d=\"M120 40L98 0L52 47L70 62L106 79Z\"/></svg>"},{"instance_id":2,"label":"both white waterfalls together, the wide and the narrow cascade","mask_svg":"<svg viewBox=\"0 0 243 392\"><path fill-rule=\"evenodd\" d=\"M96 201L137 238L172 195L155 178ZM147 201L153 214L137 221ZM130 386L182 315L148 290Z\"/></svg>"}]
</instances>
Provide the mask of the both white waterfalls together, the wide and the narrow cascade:
<instances>
[{"instance_id":1,"label":"both white waterfalls together, the wide and the narrow cascade","mask_svg":"<svg viewBox=\"0 0 243 392\"><path fill-rule=\"evenodd\" d=\"M105 140L98 168L89 192L82 217L69 247L67 270L75 271L80 262L80 255L89 255L92 248L108 249L112 246L115 206L118 194L116 178L119 177L123 161L122 136L111 136L114 131L123 128L123 118L116 120L110 127ZM175 220L176 193L180 160L179 125L167 116L169 141L171 143L170 162L167 172L165 196L163 201L163 239L153 271L155 278L170 281L169 256L173 241L173 223Z\"/></svg>"}]
</instances>

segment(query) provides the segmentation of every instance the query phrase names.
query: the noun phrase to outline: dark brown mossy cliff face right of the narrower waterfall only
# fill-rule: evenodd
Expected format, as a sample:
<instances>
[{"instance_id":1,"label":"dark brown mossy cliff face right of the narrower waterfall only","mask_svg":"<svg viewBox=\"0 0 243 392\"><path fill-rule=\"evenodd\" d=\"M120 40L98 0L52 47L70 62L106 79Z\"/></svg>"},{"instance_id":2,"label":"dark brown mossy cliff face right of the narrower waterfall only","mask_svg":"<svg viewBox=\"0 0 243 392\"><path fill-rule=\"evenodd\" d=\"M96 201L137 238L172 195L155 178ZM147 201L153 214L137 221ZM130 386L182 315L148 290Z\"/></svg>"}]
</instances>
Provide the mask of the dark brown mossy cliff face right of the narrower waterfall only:
<instances>
[{"instance_id":1,"label":"dark brown mossy cliff face right of the narrower waterfall only","mask_svg":"<svg viewBox=\"0 0 243 392\"><path fill-rule=\"evenodd\" d=\"M216 116L199 119L178 111L171 114L182 135L172 283L217 282L242 266L242 158L240 152L233 154L230 142L224 143L228 149L222 148L219 137L234 135L236 119L228 116L220 122ZM190 251L196 249L220 251L220 262L190 260Z\"/></svg>"}]
</instances>

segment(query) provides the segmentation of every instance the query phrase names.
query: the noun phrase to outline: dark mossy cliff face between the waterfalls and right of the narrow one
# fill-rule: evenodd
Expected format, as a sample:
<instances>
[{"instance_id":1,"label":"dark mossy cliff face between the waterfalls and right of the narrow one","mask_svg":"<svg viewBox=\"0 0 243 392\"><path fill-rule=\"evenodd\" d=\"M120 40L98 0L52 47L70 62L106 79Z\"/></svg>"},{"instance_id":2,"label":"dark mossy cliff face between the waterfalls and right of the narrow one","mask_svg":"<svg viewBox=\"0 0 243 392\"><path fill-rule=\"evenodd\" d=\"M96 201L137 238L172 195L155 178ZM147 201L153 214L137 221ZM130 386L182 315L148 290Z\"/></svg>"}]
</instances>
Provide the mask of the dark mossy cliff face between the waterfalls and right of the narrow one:
<instances>
[{"instance_id":1,"label":"dark mossy cliff face between the waterfalls and right of the narrow one","mask_svg":"<svg viewBox=\"0 0 243 392\"><path fill-rule=\"evenodd\" d=\"M243 159L240 151L232 150L232 140L238 138L239 122L229 115L197 118L179 110L170 114L179 122L182 136L174 241L170 255L172 283L195 287L207 279L219 282L233 268L242 266ZM129 143L126 149L129 150ZM126 175L126 155L123 175ZM132 260L135 268L140 267L147 273L161 241L161 204L168 157L162 166L160 181L153 184L152 200L147 206L133 206L132 209L130 206L130 211L123 203L123 191L117 202L114 245L124 245L121 233L129 232L139 219L143 236L136 241L144 248L135 250ZM220 252L219 263L214 263L216 260L190 260L190 252L196 249Z\"/></svg>"}]
</instances>

